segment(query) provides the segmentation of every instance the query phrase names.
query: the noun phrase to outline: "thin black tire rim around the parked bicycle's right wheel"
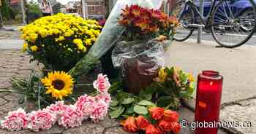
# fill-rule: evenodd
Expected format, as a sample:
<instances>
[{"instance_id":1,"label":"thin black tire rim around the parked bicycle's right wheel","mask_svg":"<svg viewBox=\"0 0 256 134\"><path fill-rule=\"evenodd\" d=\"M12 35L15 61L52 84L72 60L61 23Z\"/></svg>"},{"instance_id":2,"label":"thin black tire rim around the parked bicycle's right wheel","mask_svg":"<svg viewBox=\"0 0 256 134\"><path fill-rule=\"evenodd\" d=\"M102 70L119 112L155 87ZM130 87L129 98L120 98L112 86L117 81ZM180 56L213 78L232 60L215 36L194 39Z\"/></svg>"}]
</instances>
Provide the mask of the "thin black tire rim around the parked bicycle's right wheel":
<instances>
[{"instance_id":1,"label":"thin black tire rim around the parked bicycle's right wheel","mask_svg":"<svg viewBox=\"0 0 256 134\"><path fill-rule=\"evenodd\" d=\"M222 1L223 2L223 1ZM219 7L222 5L222 2L219 2L219 4L217 4L217 7L214 9L214 12L212 13L211 15L211 35L213 36L214 40L219 44L221 45L222 47L226 47L226 48L235 48L235 47L240 47L241 45L245 44L246 42L249 41L249 39L251 39L251 37L253 36L253 34L255 33L256 31L256 21L254 23L254 26L252 28L252 31L250 31L250 33L248 34L248 36L242 40L241 42L238 42L237 44L233 44L233 45L230 45L230 44L227 44L227 43L224 43L224 42L220 42L219 39L217 38L217 34L214 33L214 18L215 18L215 15L217 14L217 11L219 9ZM254 16L254 19L256 20L256 4L254 1L252 0L249 0L249 2L252 4L252 9L253 9L253 12L255 12L255 16Z\"/></svg>"}]
</instances>

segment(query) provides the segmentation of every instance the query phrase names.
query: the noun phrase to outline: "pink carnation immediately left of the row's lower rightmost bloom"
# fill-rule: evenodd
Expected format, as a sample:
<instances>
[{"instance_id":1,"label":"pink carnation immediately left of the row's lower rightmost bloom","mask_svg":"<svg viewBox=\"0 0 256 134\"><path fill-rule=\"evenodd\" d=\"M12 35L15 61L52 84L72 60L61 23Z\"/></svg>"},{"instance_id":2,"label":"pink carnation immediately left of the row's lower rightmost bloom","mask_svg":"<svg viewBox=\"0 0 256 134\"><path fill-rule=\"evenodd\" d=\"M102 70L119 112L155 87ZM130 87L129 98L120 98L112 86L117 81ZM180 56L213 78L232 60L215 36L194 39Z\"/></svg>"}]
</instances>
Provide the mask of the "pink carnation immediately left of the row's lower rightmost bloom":
<instances>
[{"instance_id":1,"label":"pink carnation immediately left of the row's lower rightmost bloom","mask_svg":"<svg viewBox=\"0 0 256 134\"><path fill-rule=\"evenodd\" d=\"M75 103L77 111L82 112L83 119L87 119L92 112L94 106L95 98L89 95L83 95L78 98L78 101Z\"/></svg>"}]
</instances>

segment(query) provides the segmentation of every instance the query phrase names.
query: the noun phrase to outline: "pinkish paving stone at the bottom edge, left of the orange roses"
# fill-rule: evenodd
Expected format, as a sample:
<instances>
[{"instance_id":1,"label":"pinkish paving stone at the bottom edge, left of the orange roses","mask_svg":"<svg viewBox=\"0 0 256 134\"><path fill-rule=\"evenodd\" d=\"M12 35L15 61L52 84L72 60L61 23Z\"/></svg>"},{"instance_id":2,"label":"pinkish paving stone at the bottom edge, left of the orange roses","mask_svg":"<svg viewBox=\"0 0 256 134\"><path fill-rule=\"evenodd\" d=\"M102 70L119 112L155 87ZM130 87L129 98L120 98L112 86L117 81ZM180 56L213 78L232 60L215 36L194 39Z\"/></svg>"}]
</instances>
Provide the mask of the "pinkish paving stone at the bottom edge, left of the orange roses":
<instances>
[{"instance_id":1,"label":"pinkish paving stone at the bottom edge, left of the orange roses","mask_svg":"<svg viewBox=\"0 0 256 134\"><path fill-rule=\"evenodd\" d=\"M82 126L64 130L63 134L102 134L104 129L105 127L102 127L102 125L95 124L93 122L83 122Z\"/></svg>"}]
</instances>

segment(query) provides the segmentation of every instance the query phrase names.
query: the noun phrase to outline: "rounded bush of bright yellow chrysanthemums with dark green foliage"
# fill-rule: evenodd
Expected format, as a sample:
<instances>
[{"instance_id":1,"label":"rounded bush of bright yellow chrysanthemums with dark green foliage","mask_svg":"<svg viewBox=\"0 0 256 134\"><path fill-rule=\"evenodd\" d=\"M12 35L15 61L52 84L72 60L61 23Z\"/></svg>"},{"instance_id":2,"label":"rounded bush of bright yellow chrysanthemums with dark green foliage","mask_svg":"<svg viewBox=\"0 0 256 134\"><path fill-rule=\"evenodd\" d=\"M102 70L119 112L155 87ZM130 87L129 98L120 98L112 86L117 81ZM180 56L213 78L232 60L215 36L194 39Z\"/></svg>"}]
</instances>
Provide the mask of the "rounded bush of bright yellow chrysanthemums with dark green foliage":
<instances>
[{"instance_id":1,"label":"rounded bush of bright yellow chrysanthemums with dark green foliage","mask_svg":"<svg viewBox=\"0 0 256 134\"><path fill-rule=\"evenodd\" d=\"M97 21L75 15L41 17L20 29L23 51L45 68L69 71L96 42L101 28Z\"/></svg>"}]
</instances>

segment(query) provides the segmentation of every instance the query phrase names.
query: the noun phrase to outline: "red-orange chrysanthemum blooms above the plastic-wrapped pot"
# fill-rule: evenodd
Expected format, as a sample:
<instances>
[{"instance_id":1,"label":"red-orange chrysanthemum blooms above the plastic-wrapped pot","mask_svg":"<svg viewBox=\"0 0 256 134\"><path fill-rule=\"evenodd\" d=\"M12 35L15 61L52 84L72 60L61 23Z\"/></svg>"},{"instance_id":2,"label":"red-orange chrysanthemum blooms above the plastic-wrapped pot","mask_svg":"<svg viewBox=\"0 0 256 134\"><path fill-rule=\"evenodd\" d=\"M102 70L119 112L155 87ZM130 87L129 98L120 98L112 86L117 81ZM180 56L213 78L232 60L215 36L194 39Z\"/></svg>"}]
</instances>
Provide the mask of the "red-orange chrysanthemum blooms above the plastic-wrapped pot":
<instances>
[{"instance_id":1,"label":"red-orange chrysanthemum blooms above the plastic-wrapped pot","mask_svg":"<svg viewBox=\"0 0 256 134\"><path fill-rule=\"evenodd\" d=\"M125 7L118 20L120 25L127 28L125 36L129 40L154 38L159 35L171 36L178 20L176 17L169 17L165 12L158 9L143 8L138 5Z\"/></svg>"}]
</instances>

